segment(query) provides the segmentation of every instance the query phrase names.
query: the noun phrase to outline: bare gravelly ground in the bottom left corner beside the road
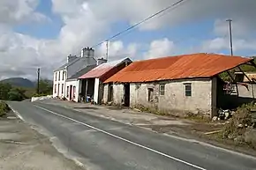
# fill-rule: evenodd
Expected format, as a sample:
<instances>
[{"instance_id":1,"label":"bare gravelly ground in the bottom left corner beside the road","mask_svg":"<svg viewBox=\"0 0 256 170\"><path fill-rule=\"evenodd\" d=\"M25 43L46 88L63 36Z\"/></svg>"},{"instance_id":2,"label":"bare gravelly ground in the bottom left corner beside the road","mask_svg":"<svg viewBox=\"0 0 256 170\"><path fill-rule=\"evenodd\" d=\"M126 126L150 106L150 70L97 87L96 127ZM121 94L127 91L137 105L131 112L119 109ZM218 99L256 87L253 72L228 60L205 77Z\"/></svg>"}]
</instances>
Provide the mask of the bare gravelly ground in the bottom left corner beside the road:
<instances>
[{"instance_id":1,"label":"bare gravelly ground in the bottom left corner beside the road","mask_svg":"<svg viewBox=\"0 0 256 170\"><path fill-rule=\"evenodd\" d=\"M12 115L13 116L13 115ZM82 170L44 137L18 119L0 120L0 169Z\"/></svg>"}]
</instances>

